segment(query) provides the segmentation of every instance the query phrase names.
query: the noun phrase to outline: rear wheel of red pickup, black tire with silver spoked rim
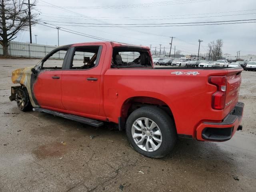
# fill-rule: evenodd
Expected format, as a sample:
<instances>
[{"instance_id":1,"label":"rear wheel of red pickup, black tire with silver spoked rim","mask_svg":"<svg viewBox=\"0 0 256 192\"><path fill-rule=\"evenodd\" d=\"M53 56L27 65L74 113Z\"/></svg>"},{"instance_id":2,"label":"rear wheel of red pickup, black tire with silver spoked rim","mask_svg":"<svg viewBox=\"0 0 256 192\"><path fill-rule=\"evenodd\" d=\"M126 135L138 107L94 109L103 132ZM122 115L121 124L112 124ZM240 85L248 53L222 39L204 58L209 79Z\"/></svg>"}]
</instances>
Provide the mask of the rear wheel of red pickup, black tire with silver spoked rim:
<instances>
[{"instance_id":1,"label":"rear wheel of red pickup, black tire with silver spoked rim","mask_svg":"<svg viewBox=\"0 0 256 192\"><path fill-rule=\"evenodd\" d=\"M150 128L144 131L143 127L146 125L145 119L148 119L148 127L150 126L150 122L151 125L153 122L155 123L156 126L152 128L152 132ZM142 126L139 126L138 122L141 122ZM154 136L154 133L157 135ZM134 134L136 134L137 137L133 138ZM126 121L126 135L135 151L151 158L166 156L172 150L177 140L174 121L166 112L156 106L144 106L134 110ZM142 137L140 137L140 135ZM137 145L135 140L141 145ZM156 142L157 140L158 142ZM159 142L159 140L161 140L161 142ZM152 142L153 144L151 144ZM146 143L148 143L148 147L146 147Z\"/></svg>"}]
</instances>

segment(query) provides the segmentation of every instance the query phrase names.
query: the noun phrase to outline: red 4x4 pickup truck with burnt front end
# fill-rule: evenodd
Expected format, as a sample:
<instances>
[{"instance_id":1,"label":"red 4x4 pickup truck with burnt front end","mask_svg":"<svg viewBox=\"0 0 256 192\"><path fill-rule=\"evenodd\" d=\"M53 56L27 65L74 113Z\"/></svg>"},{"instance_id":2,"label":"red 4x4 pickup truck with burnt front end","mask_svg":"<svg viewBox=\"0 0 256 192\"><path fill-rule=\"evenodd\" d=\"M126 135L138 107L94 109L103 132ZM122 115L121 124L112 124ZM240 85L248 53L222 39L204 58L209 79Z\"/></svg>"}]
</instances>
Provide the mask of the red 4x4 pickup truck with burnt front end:
<instances>
[{"instance_id":1,"label":"red 4x4 pickup truck with burnt front end","mask_svg":"<svg viewBox=\"0 0 256 192\"><path fill-rule=\"evenodd\" d=\"M72 44L14 70L10 100L92 126L114 122L137 152L160 158L178 136L219 142L242 129L242 70L154 68L146 46Z\"/></svg>"}]
</instances>

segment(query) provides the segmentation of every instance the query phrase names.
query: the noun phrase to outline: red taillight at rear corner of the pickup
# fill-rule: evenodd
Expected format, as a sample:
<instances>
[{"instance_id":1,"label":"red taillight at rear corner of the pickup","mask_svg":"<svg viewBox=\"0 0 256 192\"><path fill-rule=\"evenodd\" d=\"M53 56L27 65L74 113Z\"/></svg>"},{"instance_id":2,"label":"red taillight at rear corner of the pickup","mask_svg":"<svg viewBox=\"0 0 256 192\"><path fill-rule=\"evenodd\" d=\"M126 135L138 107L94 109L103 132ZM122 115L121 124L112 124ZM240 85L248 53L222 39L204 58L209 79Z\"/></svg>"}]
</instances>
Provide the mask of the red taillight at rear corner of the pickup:
<instances>
[{"instance_id":1,"label":"red taillight at rear corner of the pickup","mask_svg":"<svg viewBox=\"0 0 256 192\"><path fill-rule=\"evenodd\" d=\"M210 76L208 82L217 86L217 91L212 95L212 108L224 109L227 87L226 76Z\"/></svg>"}]
</instances>

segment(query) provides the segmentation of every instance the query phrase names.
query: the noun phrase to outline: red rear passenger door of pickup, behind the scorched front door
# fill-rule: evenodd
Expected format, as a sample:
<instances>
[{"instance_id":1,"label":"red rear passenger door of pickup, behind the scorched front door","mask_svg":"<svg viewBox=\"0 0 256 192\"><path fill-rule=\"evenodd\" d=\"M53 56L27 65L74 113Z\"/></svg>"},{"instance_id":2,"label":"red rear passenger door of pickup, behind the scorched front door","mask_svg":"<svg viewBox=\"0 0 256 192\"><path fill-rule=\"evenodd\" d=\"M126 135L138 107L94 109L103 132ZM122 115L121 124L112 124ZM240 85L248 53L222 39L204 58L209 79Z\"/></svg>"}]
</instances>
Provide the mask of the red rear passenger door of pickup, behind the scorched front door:
<instances>
[{"instance_id":1,"label":"red rear passenger door of pickup, behind the scorched front door","mask_svg":"<svg viewBox=\"0 0 256 192\"><path fill-rule=\"evenodd\" d=\"M102 46L80 46L70 50L62 73L62 104L71 112L97 116L100 111L100 81L104 58Z\"/></svg>"}]
</instances>

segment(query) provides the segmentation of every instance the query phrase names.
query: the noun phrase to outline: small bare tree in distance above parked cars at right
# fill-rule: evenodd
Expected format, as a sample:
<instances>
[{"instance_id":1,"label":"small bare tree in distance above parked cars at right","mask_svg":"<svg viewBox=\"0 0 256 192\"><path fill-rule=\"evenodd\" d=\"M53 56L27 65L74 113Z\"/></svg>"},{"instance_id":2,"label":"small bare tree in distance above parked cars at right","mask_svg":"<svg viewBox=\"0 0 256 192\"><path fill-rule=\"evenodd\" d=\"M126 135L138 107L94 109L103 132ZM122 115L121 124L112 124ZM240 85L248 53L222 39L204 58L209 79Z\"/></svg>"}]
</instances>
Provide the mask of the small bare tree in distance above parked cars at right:
<instances>
[{"instance_id":1,"label":"small bare tree in distance above parked cars at right","mask_svg":"<svg viewBox=\"0 0 256 192\"><path fill-rule=\"evenodd\" d=\"M216 61L222 57L222 46L222 39L217 39L216 41L212 41L208 44L209 52L211 50L210 58L212 58L212 60Z\"/></svg>"}]
</instances>

